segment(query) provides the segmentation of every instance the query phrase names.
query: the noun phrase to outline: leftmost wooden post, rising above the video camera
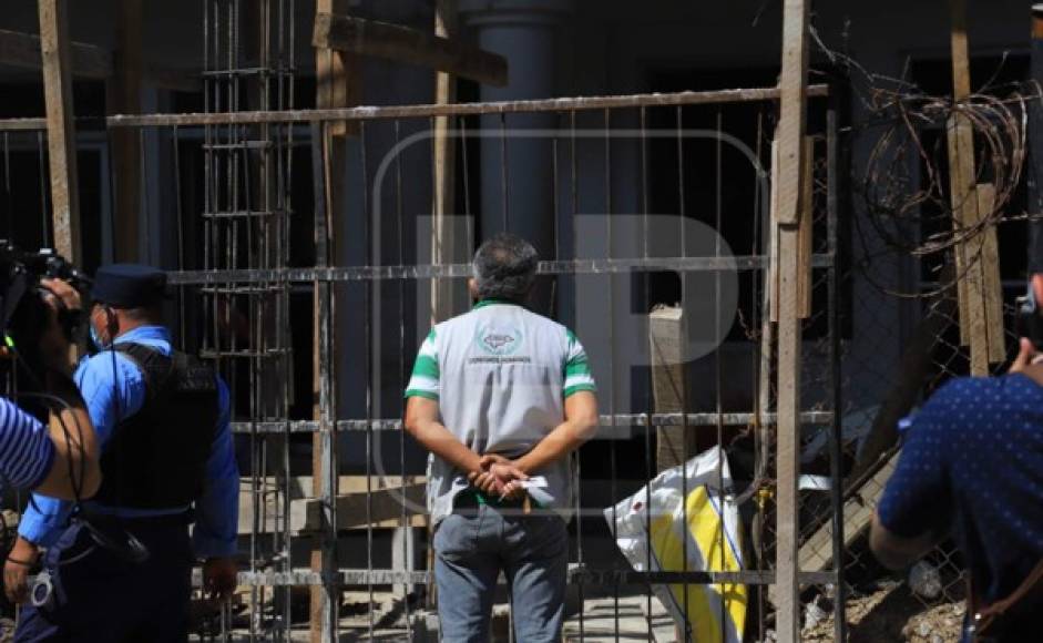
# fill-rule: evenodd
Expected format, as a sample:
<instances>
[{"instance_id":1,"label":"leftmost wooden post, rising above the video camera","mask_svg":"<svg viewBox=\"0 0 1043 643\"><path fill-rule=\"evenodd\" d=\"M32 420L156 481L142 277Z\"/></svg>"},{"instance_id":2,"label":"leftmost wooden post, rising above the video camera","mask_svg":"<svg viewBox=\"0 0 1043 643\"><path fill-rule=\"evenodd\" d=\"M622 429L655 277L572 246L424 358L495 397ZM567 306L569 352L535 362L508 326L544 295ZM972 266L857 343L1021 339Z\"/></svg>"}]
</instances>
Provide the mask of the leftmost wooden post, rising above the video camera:
<instances>
[{"instance_id":1,"label":"leftmost wooden post, rising above the video camera","mask_svg":"<svg viewBox=\"0 0 1043 643\"><path fill-rule=\"evenodd\" d=\"M39 0L54 249L80 263L80 197L65 0Z\"/></svg>"}]
</instances>

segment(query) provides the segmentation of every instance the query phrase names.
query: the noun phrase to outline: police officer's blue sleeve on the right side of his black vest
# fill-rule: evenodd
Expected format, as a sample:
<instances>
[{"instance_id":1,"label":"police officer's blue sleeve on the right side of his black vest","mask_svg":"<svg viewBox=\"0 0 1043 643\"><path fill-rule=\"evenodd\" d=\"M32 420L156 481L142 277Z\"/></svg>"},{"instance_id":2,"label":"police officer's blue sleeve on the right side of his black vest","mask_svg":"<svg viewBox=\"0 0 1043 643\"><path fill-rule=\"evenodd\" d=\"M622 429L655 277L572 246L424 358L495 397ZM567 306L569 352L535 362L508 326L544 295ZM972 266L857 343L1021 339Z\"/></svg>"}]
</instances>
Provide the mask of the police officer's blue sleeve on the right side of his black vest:
<instances>
[{"instance_id":1,"label":"police officer's blue sleeve on the right side of his black vest","mask_svg":"<svg viewBox=\"0 0 1043 643\"><path fill-rule=\"evenodd\" d=\"M192 544L201 558L229 557L236 553L239 529L239 468L232 439L228 387L217 378L221 408L217 432L206 462L203 497L195 503Z\"/></svg>"}]
</instances>

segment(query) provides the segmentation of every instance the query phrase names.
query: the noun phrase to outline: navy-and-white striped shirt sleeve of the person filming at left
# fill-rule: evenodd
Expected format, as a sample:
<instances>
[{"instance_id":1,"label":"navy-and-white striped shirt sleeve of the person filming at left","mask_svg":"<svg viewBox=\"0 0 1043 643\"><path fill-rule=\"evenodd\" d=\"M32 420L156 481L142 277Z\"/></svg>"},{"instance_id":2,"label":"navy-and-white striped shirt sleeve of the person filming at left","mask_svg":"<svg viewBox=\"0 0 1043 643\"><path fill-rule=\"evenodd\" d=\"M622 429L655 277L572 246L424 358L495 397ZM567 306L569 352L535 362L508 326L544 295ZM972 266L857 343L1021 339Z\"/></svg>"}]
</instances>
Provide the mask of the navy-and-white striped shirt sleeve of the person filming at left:
<instances>
[{"instance_id":1,"label":"navy-and-white striped shirt sleeve of the person filming at left","mask_svg":"<svg viewBox=\"0 0 1043 643\"><path fill-rule=\"evenodd\" d=\"M37 418L0 398L0 483L32 489L54 463L54 442Z\"/></svg>"}]
</instances>

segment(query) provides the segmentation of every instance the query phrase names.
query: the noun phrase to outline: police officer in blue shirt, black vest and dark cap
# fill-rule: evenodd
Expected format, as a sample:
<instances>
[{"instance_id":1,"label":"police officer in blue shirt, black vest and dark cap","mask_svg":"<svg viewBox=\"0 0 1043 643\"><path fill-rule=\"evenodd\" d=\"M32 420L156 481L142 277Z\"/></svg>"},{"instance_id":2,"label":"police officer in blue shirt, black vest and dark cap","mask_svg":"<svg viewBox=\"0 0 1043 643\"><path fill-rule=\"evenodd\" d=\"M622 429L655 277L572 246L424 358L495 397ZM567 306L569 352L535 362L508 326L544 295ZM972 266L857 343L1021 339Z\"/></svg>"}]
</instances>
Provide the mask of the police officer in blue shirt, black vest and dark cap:
<instances>
[{"instance_id":1,"label":"police officer in blue shirt, black vest and dark cap","mask_svg":"<svg viewBox=\"0 0 1043 643\"><path fill-rule=\"evenodd\" d=\"M22 518L11 559L31 562L47 548L54 591L44 605L22 609L16 641L185 641L193 560L205 559L213 599L235 588L228 390L172 348L161 324L165 290L155 268L98 271L90 324L100 351L75 381L101 443L103 481L75 516L68 501L37 496ZM24 570L9 560L10 594L24 596Z\"/></svg>"}]
</instances>

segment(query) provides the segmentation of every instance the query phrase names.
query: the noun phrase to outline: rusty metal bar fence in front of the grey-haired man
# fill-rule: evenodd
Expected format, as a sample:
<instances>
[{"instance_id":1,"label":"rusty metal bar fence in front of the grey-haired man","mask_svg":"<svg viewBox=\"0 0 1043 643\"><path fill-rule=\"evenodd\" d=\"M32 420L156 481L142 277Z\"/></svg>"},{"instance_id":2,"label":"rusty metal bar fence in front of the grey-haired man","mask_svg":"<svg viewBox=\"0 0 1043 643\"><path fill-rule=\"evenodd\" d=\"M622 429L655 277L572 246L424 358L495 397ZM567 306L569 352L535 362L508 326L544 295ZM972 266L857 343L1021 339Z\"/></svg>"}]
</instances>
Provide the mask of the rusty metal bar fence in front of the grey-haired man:
<instances>
[{"instance_id":1,"label":"rusty metal bar fence in front of the grey-haired man","mask_svg":"<svg viewBox=\"0 0 1043 643\"><path fill-rule=\"evenodd\" d=\"M286 68L266 69L277 78ZM539 309L576 329L601 389L601 430L575 462L566 637L684 637L692 622L672 622L650 583L743 583L744 640L769 640L779 600L769 591L774 402L761 382L773 361L764 231L777 91L295 111L289 94L252 85L243 70L209 71L209 113L106 119L139 131L142 166L159 164L172 182L176 200L156 213L176 222L163 242L175 257L172 319L233 391L245 593L223 613L201 612L200 636L432 635L423 455L397 419L400 396L430 324L430 282L462 290L476 244L508 229L543 235ZM276 102L258 110L239 91ZM834 412L845 300L839 143L827 91L809 93L820 118L801 435L801 533L814 564L802 600L814 614L825 596L842 614L842 498L828 482L846 473ZM535 127L533 114L544 119ZM436 115L449 116L459 150L452 264L432 264L428 241ZM335 121L357 134L330 136ZM42 122L2 126L9 143L35 137L19 130ZM147 154L146 135L171 154ZM342 166L331 167L330 145L342 146ZM534 167L545 170L550 196L535 226L518 192ZM331 190L344 191L339 203ZM685 359L692 396L679 412L657 412L652 392L647 316L662 304L710 320L693 333L705 336ZM678 426L696 436L685 459L713 446L727 453L734 484L720 499L739 507L742 571L634 571L612 538L606 508L648 484L662 430ZM834 623L840 640L845 620Z\"/></svg>"}]
</instances>

